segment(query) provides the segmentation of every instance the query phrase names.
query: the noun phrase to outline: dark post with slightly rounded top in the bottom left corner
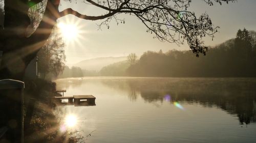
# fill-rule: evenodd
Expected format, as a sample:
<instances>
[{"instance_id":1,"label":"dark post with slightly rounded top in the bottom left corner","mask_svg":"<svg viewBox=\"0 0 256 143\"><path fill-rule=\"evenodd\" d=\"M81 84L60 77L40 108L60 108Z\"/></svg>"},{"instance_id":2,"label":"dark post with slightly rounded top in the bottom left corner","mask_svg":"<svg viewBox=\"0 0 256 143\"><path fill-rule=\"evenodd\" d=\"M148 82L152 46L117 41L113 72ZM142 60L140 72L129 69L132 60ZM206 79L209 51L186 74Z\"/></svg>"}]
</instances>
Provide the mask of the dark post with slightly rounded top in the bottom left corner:
<instances>
[{"instance_id":1,"label":"dark post with slightly rounded top in the bottom left corner","mask_svg":"<svg viewBox=\"0 0 256 143\"><path fill-rule=\"evenodd\" d=\"M24 82L0 80L0 142L23 143Z\"/></svg>"}]
</instances>

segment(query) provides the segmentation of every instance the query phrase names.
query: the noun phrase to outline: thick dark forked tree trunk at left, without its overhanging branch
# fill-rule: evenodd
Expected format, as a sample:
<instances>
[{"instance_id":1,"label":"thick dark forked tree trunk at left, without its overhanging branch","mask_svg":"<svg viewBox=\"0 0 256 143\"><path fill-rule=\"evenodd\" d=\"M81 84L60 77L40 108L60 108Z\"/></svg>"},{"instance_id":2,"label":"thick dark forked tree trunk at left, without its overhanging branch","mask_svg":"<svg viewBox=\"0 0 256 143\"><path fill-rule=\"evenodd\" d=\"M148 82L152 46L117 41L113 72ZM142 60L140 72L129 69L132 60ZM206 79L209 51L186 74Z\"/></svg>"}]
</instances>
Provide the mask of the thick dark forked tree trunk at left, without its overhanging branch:
<instances>
[{"instance_id":1,"label":"thick dark forked tree trunk at left, without its overhanging branch","mask_svg":"<svg viewBox=\"0 0 256 143\"><path fill-rule=\"evenodd\" d=\"M0 79L23 80L28 64L51 34L57 19L58 5L54 0L47 2L44 17L37 30L27 37L30 25L28 1L5 0L4 30L1 31L0 38L0 50L3 51Z\"/></svg>"}]
</instances>

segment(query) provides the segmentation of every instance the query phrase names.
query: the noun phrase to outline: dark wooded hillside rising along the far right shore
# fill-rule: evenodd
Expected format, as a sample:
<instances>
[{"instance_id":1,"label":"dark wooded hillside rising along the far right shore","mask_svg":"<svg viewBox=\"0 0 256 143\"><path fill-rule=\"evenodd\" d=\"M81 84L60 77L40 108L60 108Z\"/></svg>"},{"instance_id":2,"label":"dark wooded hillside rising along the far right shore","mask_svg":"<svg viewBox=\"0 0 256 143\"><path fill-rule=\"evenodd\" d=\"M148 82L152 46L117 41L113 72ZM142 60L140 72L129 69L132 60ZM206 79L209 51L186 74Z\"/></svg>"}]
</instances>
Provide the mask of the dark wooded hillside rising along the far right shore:
<instances>
[{"instance_id":1,"label":"dark wooded hillside rising along the far right shore","mask_svg":"<svg viewBox=\"0 0 256 143\"><path fill-rule=\"evenodd\" d=\"M130 76L256 77L256 32L245 28L208 49L199 58L191 51L147 51L127 70Z\"/></svg>"}]
</instances>

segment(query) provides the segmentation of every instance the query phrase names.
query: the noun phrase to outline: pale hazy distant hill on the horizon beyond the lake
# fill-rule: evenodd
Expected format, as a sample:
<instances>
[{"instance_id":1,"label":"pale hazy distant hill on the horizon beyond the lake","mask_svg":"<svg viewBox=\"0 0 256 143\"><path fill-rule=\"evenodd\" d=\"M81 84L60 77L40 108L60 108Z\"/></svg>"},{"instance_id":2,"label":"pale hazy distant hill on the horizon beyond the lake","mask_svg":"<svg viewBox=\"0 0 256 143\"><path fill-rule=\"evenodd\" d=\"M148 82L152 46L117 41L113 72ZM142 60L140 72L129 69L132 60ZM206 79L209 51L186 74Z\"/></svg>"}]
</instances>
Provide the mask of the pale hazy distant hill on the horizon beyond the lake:
<instances>
[{"instance_id":1,"label":"pale hazy distant hill on the horizon beyond the lake","mask_svg":"<svg viewBox=\"0 0 256 143\"><path fill-rule=\"evenodd\" d=\"M108 66L113 63L125 61L127 59L126 56L119 57L101 57L89 60L83 60L73 66L80 67L81 69L86 69L90 71L99 71L101 68Z\"/></svg>"}]
</instances>

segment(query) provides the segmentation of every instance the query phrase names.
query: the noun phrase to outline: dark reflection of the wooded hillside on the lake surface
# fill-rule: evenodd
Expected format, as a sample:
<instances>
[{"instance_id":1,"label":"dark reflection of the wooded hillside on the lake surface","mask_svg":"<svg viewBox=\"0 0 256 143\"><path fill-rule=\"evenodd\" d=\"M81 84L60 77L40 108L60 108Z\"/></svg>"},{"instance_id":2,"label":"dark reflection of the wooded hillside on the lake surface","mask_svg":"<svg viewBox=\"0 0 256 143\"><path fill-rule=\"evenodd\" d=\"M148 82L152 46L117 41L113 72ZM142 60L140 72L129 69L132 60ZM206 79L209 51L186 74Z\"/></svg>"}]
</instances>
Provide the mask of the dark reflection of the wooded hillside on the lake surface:
<instances>
[{"instance_id":1,"label":"dark reflection of the wooded hillside on the lake surface","mask_svg":"<svg viewBox=\"0 0 256 143\"><path fill-rule=\"evenodd\" d=\"M237 115L240 124L256 122L255 78L123 78L101 79L111 88L128 91L131 101L199 103ZM154 103L156 104L156 103ZM159 106L159 105L158 105Z\"/></svg>"}]
</instances>

